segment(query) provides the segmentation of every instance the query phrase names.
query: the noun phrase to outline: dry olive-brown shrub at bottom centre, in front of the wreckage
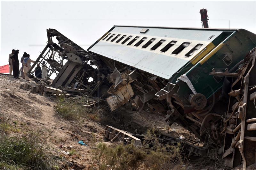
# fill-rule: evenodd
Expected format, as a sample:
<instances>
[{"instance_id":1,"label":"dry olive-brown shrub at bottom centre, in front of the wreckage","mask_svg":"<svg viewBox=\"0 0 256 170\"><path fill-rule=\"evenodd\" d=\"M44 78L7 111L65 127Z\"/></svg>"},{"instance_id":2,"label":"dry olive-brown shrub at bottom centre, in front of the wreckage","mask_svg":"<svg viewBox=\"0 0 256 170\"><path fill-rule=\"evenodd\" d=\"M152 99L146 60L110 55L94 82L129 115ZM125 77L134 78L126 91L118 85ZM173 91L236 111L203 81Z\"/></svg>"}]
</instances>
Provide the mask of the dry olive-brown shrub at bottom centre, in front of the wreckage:
<instances>
[{"instance_id":1,"label":"dry olive-brown shrub at bottom centre, in front of the wreckage","mask_svg":"<svg viewBox=\"0 0 256 170\"><path fill-rule=\"evenodd\" d=\"M160 144L151 130L148 130L141 147L135 147L133 143L107 146L102 142L93 147L92 163L96 163L100 170L185 169L181 145Z\"/></svg>"}]
</instances>

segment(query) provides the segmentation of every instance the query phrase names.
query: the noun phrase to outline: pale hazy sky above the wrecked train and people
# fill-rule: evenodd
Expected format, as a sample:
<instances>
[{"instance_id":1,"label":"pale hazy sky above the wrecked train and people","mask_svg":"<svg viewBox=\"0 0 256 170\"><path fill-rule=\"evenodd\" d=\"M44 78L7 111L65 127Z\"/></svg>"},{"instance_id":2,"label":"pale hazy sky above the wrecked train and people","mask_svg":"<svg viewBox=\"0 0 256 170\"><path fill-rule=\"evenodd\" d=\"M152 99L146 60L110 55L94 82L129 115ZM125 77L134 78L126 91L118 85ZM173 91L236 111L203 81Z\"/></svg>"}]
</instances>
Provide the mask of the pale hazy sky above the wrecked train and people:
<instances>
[{"instance_id":1,"label":"pale hazy sky above the wrecked train and people","mask_svg":"<svg viewBox=\"0 0 256 170\"><path fill-rule=\"evenodd\" d=\"M19 49L36 60L55 28L84 49L113 25L202 27L207 8L211 28L244 28L256 33L254 1L1 1L1 60Z\"/></svg>"}]
</instances>

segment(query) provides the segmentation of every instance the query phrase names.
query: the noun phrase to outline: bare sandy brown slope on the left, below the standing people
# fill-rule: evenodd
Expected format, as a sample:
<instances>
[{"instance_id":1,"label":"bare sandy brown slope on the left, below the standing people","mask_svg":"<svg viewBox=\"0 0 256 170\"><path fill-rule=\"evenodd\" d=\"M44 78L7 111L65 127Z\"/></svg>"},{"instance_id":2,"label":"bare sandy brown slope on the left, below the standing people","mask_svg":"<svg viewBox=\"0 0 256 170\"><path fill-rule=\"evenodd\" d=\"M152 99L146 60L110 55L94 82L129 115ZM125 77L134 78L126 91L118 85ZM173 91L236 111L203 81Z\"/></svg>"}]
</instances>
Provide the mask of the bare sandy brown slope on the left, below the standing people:
<instances>
[{"instance_id":1,"label":"bare sandy brown slope on the left, below the standing people","mask_svg":"<svg viewBox=\"0 0 256 170\"><path fill-rule=\"evenodd\" d=\"M97 140L103 140L105 126L86 120L83 124L67 121L56 115L54 105L55 99L44 97L39 94L30 93L30 91L20 89L20 83L28 83L22 79L14 79L11 76L1 75L1 117L4 115L7 122L17 122L16 126L21 131L38 130L45 131L56 126L48 143L55 151L71 151L72 146L76 155L65 156L68 161L83 164L85 169L90 167L91 145L93 142L90 127L98 129L95 133ZM33 85L34 82L30 81ZM9 90L8 90L9 89ZM23 123L26 126L21 125ZM12 123L14 125L14 123ZM71 136L71 134L76 134ZM47 134L45 134L47 135ZM83 140L89 146L82 146L77 142ZM60 148L60 145L63 147Z\"/></svg>"}]
</instances>

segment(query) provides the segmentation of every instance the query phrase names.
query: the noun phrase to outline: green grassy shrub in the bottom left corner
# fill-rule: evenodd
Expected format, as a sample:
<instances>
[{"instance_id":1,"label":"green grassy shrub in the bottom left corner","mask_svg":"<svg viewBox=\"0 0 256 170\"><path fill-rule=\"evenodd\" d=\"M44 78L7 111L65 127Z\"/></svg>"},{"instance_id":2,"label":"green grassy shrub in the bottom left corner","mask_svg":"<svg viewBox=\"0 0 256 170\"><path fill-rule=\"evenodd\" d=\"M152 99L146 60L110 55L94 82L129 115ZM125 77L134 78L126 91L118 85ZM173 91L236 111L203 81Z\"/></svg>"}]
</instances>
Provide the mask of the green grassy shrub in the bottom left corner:
<instances>
[{"instance_id":1,"label":"green grassy shrub in the bottom left corner","mask_svg":"<svg viewBox=\"0 0 256 170\"><path fill-rule=\"evenodd\" d=\"M58 166L58 158L49 154L50 147L45 143L49 136L43 138L42 135L36 131L22 137L1 136L1 167L48 170Z\"/></svg>"}]
</instances>

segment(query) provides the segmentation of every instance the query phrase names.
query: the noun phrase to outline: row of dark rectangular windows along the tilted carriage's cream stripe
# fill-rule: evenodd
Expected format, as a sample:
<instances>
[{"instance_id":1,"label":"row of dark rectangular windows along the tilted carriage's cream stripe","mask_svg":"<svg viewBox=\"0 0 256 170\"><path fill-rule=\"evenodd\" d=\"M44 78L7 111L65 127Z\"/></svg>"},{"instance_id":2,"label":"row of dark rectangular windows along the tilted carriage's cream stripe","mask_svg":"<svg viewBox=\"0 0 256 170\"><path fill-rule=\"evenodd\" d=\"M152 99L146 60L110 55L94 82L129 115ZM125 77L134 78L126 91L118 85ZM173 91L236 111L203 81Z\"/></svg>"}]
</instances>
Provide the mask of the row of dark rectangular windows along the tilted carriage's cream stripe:
<instances>
[{"instance_id":1,"label":"row of dark rectangular windows along the tilted carriage's cream stripe","mask_svg":"<svg viewBox=\"0 0 256 170\"><path fill-rule=\"evenodd\" d=\"M109 36L111 33L109 33L106 37L104 37L102 40L108 41L111 38L113 38L116 34L112 34L111 36ZM116 43L121 42L121 44L126 43L127 41L129 41L132 38L132 35L126 37L126 35L122 35L118 34L115 36L115 38L113 38L110 42L114 42L116 39ZM119 38L120 37L120 38ZM118 39L119 38L119 39ZM138 40L140 37L136 36L135 38L131 39L130 42L128 42L128 46L132 45L133 42L135 42L136 40ZM140 41L138 41L134 47L138 47L142 42L146 41L147 37L143 37L142 39L140 39ZM151 38L148 42L146 42L141 48L145 49L147 48L151 43L153 43L156 40L156 38ZM153 47L150 48L150 50L154 51L156 50L160 45L162 45L166 40L160 40L158 41ZM170 41L167 45L164 46L164 48L162 48L160 50L160 52L166 52L168 49L170 49L174 44L176 44L177 41ZM172 51L172 54L177 55L179 54L183 49L185 49L186 47L188 47L188 45L190 44L190 42L183 42L178 48L176 48L174 51ZM203 46L203 44L197 44L194 48L192 48L186 55L185 57L189 57L191 55L193 55L199 48L201 48Z\"/></svg>"}]
</instances>

